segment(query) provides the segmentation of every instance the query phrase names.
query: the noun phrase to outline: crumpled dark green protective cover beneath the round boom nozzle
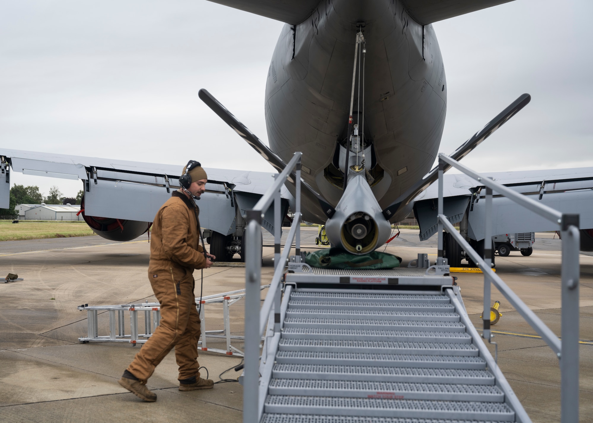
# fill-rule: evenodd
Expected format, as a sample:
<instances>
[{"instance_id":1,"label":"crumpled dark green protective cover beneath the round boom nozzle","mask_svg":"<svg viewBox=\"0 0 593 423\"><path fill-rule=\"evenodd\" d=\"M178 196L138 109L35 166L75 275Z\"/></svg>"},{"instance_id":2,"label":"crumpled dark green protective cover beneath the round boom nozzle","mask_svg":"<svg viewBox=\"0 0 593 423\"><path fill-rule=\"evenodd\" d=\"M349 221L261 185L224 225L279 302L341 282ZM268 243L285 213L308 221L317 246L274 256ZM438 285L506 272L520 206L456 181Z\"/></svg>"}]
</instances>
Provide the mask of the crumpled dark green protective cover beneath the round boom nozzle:
<instances>
[{"instance_id":1,"label":"crumpled dark green protective cover beneath the round boom nozzle","mask_svg":"<svg viewBox=\"0 0 593 423\"><path fill-rule=\"evenodd\" d=\"M379 251L356 255L334 247L307 253L305 262L311 267L328 269L393 269L400 267L401 258Z\"/></svg>"}]
</instances>

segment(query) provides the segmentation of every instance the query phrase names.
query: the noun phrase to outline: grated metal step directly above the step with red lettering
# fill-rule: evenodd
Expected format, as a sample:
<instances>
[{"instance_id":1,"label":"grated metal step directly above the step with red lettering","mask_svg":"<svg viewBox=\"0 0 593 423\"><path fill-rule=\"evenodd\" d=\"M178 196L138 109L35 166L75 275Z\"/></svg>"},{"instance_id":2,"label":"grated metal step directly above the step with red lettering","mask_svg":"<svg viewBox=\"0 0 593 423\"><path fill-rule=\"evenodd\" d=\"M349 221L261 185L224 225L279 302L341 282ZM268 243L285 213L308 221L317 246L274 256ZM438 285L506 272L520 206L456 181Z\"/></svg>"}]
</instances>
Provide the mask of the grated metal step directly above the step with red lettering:
<instances>
[{"instance_id":1,"label":"grated metal step directly above the step with red lettering","mask_svg":"<svg viewBox=\"0 0 593 423\"><path fill-rule=\"evenodd\" d=\"M422 382L493 385L487 370L458 368L413 368L334 366L331 364L275 364L275 379L362 380L366 382Z\"/></svg>"}]
</instances>

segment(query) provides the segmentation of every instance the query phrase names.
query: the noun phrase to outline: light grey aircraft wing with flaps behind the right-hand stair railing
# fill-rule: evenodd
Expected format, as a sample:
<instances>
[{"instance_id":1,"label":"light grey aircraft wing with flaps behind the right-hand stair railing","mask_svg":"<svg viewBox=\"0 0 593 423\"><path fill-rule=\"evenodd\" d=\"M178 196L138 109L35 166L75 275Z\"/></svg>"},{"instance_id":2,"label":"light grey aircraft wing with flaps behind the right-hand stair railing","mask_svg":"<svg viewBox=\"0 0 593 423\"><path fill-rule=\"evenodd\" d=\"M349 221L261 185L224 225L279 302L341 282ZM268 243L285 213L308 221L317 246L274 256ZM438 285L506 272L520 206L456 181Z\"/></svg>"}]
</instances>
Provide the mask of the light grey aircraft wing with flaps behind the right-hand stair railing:
<instances>
[{"instance_id":1,"label":"light grey aircraft wing with flaps behind the right-hand stair railing","mask_svg":"<svg viewBox=\"0 0 593 423\"><path fill-rule=\"evenodd\" d=\"M580 227L593 228L593 168L484 173L496 182L541 201L563 213L579 213ZM451 223L461 222L468 212L468 235L484 238L486 190L480 182L464 174L443 178L444 214ZM420 225L420 241L436 233L438 182L415 198L414 213ZM557 230L557 225L493 192L493 234Z\"/></svg>"}]
</instances>

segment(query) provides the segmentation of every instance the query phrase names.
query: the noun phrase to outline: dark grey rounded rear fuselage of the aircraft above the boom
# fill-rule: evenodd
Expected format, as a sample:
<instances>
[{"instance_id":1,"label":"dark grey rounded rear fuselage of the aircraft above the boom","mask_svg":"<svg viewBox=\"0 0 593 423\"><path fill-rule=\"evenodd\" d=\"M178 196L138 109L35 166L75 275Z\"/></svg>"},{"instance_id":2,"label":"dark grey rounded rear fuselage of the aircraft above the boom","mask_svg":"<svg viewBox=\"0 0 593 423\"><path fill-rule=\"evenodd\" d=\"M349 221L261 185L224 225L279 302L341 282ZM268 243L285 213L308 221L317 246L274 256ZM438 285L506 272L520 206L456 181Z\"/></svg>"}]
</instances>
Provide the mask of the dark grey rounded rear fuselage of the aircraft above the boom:
<instances>
[{"instance_id":1,"label":"dark grey rounded rear fuselage of the aircraft above the boom","mask_svg":"<svg viewBox=\"0 0 593 423\"><path fill-rule=\"evenodd\" d=\"M268 139L285 161L302 151L302 164L309 169L302 173L304 180L337 204L342 190L330 184L323 171L347 124L358 21L365 23L365 132L385 171L384 180L372 190L385 207L431 168L447 104L444 65L432 25L416 23L401 2L321 2L295 25L294 58L293 31L285 25L267 77ZM355 100L355 110L357 104ZM407 171L398 176L404 168ZM305 209L304 219L325 222L319 207Z\"/></svg>"}]
</instances>

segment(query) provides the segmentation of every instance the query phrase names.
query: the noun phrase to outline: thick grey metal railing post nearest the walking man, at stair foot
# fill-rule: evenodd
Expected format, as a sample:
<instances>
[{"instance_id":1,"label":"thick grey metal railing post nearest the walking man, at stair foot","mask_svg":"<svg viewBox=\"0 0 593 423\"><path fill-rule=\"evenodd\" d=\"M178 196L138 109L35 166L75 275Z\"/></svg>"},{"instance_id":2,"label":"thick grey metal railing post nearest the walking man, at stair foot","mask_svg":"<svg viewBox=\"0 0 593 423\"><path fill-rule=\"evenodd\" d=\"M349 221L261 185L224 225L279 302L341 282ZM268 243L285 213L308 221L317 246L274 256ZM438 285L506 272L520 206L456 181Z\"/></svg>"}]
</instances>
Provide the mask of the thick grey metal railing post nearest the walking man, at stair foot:
<instances>
[{"instance_id":1,"label":"thick grey metal railing post nearest the walking man, at stair foot","mask_svg":"<svg viewBox=\"0 0 593 423\"><path fill-rule=\"evenodd\" d=\"M262 211L247 211L245 272L245 361L243 370L243 423L259 416L260 284L262 272Z\"/></svg>"}]
</instances>

